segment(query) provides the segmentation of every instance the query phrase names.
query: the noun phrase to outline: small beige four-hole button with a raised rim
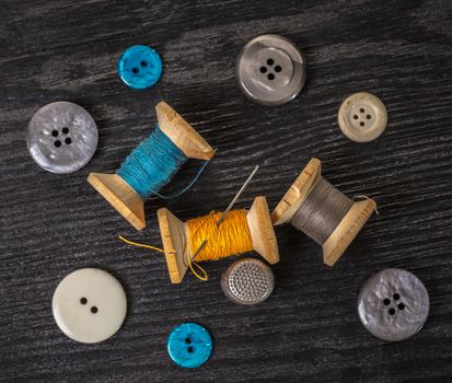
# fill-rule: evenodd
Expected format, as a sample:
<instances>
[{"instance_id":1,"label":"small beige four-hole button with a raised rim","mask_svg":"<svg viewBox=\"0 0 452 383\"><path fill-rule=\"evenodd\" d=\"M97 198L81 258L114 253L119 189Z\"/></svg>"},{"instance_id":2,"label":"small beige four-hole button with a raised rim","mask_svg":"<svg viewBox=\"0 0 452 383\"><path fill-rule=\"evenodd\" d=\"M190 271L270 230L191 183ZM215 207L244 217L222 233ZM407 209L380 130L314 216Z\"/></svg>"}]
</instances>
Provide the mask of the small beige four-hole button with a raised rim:
<instances>
[{"instance_id":1,"label":"small beige four-hole button with a raised rim","mask_svg":"<svg viewBox=\"0 0 452 383\"><path fill-rule=\"evenodd\" d=\"M371 93L355 93L340 105L337 120L340 130L350 140L372 141L386 128L386 107Z\"/></svg>"}]
</instances>

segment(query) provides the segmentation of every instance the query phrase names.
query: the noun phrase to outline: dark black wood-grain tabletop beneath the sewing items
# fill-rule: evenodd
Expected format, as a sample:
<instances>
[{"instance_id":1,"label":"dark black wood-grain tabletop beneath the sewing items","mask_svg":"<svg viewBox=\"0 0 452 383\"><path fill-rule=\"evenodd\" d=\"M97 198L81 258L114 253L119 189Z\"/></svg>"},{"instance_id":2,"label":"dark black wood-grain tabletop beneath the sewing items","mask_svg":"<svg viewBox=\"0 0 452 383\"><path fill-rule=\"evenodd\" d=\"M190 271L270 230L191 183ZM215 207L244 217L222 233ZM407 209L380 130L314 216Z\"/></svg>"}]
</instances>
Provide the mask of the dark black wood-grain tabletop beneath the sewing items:
<instances>
[{"instance_id":1,"label":"dark black wood-grain tabletop beneath the sewing items","mask_svg":"<svg viewBox=\"0 0 452 383\"><path fill-rule=\"evenodd\" d=\"M16 382L451 382L452 381L452 5L436 1L108 1L2 0L0 8L0 380ZM305 55L308 81L287 105L244 98L235 58L252 37L277 33ZM154 47L160 82L139 92L118 79L135 44ZM367 144L336 123L349 94L369 91L390 124ZM54 101L85 107L98 125L92 161L69 175L40 170L25 129ZM165 100L218 154L186 195L148 201L136 232L86 183L113 172L155 123ZM277 287L264 304L230 303L220 289L225 259L171 285L163 257L116 240L161 245L155 210L182 219L223 209L256 165L237 204L265 195L274 208L311 156L348 196L379 204L341 260L277 229ZM198 163L177 176L185 184ZM253 254L252 254L253 255ZM126 322L111 339L77 344L54 322L51 297L82 267L124 285ZM362 327L357 294L372 274L399 267L427 286L431 310L409 340L384 344ZM186 321L205 325L215 351L201 368L169 359L166 337Z\"/></svg>"}]
</instances>

